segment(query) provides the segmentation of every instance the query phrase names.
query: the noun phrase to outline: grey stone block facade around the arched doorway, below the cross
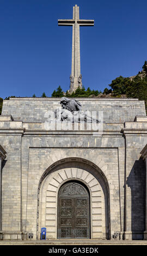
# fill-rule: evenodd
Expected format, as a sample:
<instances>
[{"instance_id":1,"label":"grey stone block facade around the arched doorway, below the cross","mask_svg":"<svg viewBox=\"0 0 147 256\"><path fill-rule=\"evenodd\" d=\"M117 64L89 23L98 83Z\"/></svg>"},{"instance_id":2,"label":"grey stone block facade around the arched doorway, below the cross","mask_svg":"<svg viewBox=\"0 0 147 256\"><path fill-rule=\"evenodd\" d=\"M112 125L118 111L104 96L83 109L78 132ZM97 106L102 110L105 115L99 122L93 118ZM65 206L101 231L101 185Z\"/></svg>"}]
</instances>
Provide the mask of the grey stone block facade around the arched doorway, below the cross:
<instances>
[{"instance_id":1,"label":"grey stone block facade around the arched doorway, below the cross","mask_svg":"<svg viewBox=\"0 0 147 256\"><path fill-rule=\"evenodd\" d=\"M60 106L60 99L3 102L3 239L28 239L29 233L40 239L41 227L47 228L47 239L56 239L58 191L70 180L89 191L91 239L113 239L116 232L120 239L145 238L146 172L140 155L147 144L144 101L79 101L84 111L103 111L102 134L46 130L45 113Z\"/></svg>"}]
</instances>

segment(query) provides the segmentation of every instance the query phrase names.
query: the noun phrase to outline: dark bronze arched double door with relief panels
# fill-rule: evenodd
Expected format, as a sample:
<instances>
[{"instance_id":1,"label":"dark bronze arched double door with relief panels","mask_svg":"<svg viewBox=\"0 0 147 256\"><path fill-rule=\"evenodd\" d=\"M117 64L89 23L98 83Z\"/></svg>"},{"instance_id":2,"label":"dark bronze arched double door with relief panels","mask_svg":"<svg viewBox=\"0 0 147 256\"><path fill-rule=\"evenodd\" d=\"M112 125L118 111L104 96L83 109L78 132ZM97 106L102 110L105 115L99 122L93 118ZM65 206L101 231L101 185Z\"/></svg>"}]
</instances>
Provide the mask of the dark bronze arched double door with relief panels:
<instances>
[{"instance_id":1,"label":"dark bronze arched double door with relief panels","mask_svg":"<svg viewBox=\"0 0 147 256\"><path fill-rule=\"evenodd\" d=\"M58 238L90 238L89 193L77 182L68 182L60 188Z\"/></svg>"}]
</instances>

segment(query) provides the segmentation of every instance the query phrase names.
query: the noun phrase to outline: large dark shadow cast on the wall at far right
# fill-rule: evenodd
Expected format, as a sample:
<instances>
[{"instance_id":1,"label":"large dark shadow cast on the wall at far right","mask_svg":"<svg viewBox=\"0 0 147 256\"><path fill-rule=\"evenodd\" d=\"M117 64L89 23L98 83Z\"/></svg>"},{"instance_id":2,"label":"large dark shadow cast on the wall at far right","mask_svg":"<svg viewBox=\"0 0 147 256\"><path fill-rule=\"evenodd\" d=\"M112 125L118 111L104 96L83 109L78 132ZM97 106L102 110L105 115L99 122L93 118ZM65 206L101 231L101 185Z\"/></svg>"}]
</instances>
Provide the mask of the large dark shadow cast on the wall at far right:
<instances>
[{"instance_id":1,"label":"large dark shadow cast on the wall at far right","mask_svg":"<svg viewBox=\"0 0 147 256\"><path fill-rule=\"evenodd\" d=\"M143 240L145 231L145 162L140 157L133 164L126 184L131 188L132 240ZM127 196L126 196L127 197ZM128 209L126 209L128 211Z\"/></svg>"}]
</instances>

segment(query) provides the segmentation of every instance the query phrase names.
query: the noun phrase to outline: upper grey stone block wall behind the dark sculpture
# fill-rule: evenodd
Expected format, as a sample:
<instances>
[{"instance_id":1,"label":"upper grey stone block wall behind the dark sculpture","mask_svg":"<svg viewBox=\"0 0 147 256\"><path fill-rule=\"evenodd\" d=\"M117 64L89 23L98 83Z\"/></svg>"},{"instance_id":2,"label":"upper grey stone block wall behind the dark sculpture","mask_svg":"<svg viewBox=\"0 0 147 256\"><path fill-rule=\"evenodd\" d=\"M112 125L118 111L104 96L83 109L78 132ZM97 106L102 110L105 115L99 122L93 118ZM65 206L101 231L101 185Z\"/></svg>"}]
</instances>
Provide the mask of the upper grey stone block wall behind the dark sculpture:
<instances>
[{"instance_id":1,"label":"upper grey stone block wall behind the dark sculpture","mask_svg":"<svg viewBox=\"0 0 147 256\"><path fill-rule=\"evenodd\" d=\"M77 98L83 111L103 111L105 123L133 121L136 115L146 115L144 101L138 99ZM10 98L3 101L2 115L12 115L15 121L44 123L45 113L60 107L58 98Z\"/></svg>"}]
</instances>

